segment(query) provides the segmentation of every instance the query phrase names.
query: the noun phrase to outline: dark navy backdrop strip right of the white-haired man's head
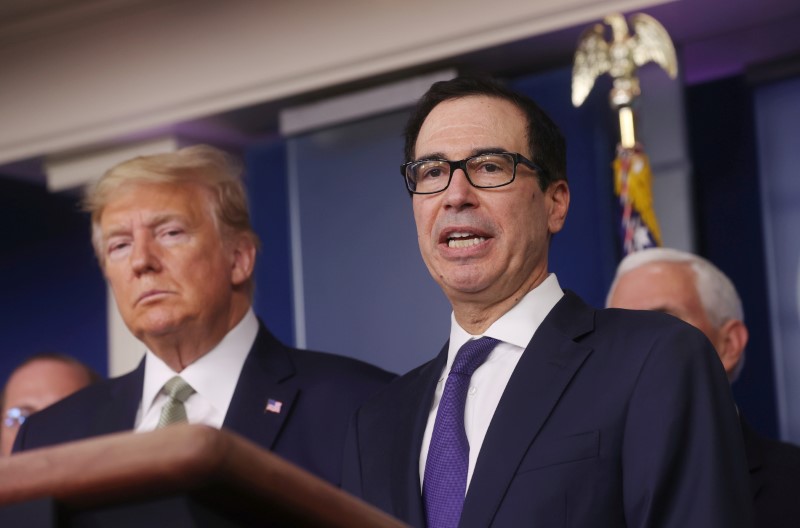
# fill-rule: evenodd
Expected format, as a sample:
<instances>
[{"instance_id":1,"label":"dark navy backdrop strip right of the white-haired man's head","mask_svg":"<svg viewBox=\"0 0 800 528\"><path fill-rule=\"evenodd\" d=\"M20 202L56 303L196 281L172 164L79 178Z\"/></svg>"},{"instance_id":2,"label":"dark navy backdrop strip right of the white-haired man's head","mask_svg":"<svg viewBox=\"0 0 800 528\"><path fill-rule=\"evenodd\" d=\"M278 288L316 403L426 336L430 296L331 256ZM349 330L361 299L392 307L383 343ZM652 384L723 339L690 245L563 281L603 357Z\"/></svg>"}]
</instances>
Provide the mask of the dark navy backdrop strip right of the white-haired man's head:
<instances>
[{"instance_id":1,"label":"dark navy backdrop strip right of the white-haired man's head","mask_svg":"<svg viewBox=\"0 0 800 528\"><path fill-rule=\"evenodd\" d=\"M753 89L744 77L731 77L690 87L686 102L697 252L736 285L750 331L734 396L754 428L776 437Z\"/></svg>"}]
</instances>

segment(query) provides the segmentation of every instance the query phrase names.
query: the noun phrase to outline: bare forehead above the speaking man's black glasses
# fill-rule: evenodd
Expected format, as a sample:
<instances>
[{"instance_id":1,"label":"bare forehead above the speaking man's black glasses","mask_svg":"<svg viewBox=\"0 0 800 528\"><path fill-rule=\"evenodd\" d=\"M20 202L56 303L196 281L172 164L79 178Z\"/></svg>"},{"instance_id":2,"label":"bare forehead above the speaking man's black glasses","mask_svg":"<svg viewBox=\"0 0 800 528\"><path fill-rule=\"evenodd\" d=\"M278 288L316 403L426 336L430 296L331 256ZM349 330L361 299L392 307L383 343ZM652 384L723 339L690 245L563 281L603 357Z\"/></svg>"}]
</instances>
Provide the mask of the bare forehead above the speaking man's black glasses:
<instances>
[{"instance_id":1,"label":"bare forehead above the speaking man's black glasses","mask_svg":"<svg viewBox=\"0 0 800 528\"><path fill-rule=\"evenodd\" d=\"M513 103L487 96L469 96L439 103L420 128L416 158L447 154L467 156L487 148L527 152L527 120Z\"/></svg>"}]
</instances>

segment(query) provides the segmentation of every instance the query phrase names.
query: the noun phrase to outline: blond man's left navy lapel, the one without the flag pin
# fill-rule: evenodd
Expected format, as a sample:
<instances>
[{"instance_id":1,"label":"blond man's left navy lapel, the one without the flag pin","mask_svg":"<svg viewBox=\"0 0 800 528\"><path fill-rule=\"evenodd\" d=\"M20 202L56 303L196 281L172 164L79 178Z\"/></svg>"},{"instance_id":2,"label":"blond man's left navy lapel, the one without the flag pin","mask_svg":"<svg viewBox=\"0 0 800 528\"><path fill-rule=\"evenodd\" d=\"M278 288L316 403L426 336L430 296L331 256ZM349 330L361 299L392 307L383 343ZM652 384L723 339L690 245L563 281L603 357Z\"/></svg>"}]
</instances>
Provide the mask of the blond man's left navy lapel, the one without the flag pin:
<instances>
[{"instance_id":1,"label":"blond man's left navy lapel, the one without the flag pin","mask_svg":"<svg viewBox=\"0 0 800 528\"><path fill-rule=\"evenodd\" d=\"M136 413L139 411L139 403L142 401L144 358L136 369L106 383L111 384L110 397L91 423L88 436L100 436L133 429Z\"/></svg>"}]
</instances>

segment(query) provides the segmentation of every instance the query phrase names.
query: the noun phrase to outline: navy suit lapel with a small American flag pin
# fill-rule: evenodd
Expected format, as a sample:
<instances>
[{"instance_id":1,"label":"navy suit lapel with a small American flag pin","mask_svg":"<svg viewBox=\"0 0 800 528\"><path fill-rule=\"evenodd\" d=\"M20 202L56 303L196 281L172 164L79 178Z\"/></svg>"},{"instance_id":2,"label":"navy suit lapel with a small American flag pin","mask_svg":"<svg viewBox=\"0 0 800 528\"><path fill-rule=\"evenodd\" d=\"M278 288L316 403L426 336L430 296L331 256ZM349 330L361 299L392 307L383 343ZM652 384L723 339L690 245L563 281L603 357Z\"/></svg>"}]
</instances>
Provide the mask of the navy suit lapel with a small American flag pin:
<instances>
[{"instance_id":1,"label":"navy suit lapel with a small American flag pin","mask_svg":"<svg viewBox=\"0 0 800 528\"><path fill-rule=\"evenodd\" d=\"M289 352L259 322L223 427L272 449L297 397L297 388L282 383L294 373Z\"/></svg>"}]
</instances>

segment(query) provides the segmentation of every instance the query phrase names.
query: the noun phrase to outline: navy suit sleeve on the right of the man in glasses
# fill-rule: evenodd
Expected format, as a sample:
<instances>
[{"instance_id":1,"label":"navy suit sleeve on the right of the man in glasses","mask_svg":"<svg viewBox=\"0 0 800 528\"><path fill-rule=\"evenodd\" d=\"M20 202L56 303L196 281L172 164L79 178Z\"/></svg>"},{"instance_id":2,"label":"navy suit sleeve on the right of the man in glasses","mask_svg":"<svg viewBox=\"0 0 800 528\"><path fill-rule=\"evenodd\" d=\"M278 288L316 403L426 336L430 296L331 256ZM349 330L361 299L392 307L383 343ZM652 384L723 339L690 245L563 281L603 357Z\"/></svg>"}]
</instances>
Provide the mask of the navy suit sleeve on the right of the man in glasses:
<instances>
[{"instance_id":1,"label":"navy suit sleeve on the right of the man in glasses","mask_svg":"<svg viewBox=\"0 0 800 528\"><path fill-rule=\"evenodd\" d=\"M622 453L629 527L753 525L730 387L694 328L655 341L630 401Z\"/></svg>"}]
</instances>

